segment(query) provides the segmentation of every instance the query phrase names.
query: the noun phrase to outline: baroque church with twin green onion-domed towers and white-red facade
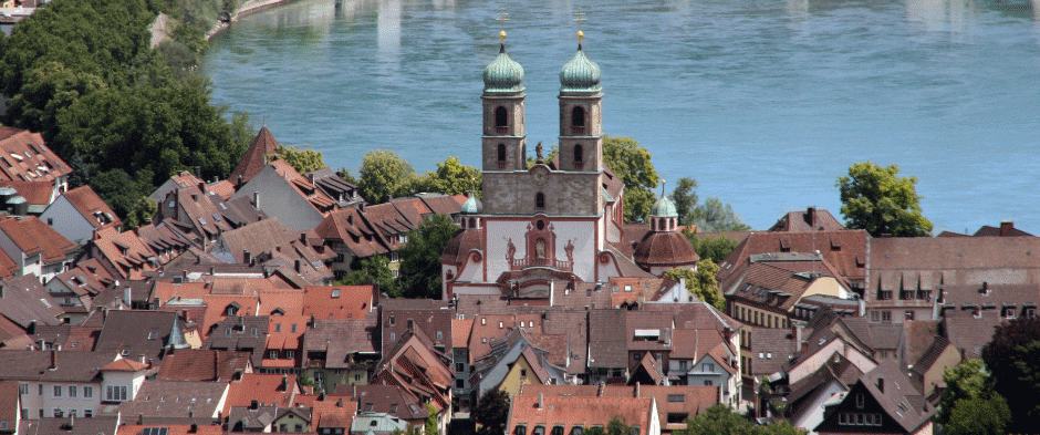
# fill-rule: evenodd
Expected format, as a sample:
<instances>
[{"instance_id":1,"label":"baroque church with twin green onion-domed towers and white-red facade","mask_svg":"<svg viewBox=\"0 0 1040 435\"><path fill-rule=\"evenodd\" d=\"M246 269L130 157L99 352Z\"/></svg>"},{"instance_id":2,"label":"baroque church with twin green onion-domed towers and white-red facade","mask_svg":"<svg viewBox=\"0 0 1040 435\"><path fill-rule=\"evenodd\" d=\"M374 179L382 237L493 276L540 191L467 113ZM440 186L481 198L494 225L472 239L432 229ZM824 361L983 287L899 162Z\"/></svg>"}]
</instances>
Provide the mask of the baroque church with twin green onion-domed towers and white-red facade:
<instances>
[{"instance_id":1,"label":"baroque church with twin green onion-domed towers and white-red facade","mask_svg":"<svg viewBox=\"0 0 1040 435\"><path fill-rule=\"evenodd\" d=\"M539 143L533 165L523 126L523 66L506 52L505 30L499 37L499 54L483 70L483 201L470 195L462 205L461 229L440 258L444 299L548 300L580 282L696 268L697 253L677 231L667 197L651 210L645 236L623 241L631 240L624 183L603 162L601 72L582 50L582 31L560 71L559 152L548 160Z\"/></svg>"}]
</instances>

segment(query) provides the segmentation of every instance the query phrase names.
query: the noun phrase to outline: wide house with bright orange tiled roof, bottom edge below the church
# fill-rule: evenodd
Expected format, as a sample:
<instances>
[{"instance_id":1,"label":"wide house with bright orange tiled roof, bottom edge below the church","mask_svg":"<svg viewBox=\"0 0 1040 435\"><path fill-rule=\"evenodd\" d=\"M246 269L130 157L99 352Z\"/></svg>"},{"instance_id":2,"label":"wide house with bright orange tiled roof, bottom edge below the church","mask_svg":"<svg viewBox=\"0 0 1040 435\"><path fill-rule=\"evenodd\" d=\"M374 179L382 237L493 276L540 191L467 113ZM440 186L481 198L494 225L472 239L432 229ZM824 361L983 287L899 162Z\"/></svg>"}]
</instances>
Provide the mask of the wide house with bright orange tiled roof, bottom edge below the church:
<instances>
[{"instance_id":1,"label":"wide house with bright orange tiled roof, bottom edge below the church","mask_svg":"<svg viewBox=\"0 0 1040 435\"><path fill-rule=\"evenodd\" d=\"M632 434L661 434L654 397L560 397L544 394L514 397L510 402L506 433L572 434L592 427L605 428L615 417L632 427Z\"/></svg>"}]
</instances>

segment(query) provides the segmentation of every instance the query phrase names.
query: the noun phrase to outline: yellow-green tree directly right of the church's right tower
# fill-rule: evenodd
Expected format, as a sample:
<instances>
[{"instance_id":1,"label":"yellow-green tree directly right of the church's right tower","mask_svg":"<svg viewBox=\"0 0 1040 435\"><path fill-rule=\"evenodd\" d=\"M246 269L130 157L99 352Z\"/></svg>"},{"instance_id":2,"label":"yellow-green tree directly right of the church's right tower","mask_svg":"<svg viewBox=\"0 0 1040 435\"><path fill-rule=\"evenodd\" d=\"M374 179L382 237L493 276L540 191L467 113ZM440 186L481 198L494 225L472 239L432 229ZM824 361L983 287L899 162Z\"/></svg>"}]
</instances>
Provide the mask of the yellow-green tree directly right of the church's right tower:
<instances>
[{"instance_id":1,"label":"yellow-green tree directly right of the church's right tower","mask_svg":"<svg viewBox=\"0 0 1040 435\"><path fill-rule=\"evenodd\" d=\"M643 221L654 205L661 177L651 153L631 137L603 136L603 163L625 183L625 221Z\"/></svg>"}]
</instances>

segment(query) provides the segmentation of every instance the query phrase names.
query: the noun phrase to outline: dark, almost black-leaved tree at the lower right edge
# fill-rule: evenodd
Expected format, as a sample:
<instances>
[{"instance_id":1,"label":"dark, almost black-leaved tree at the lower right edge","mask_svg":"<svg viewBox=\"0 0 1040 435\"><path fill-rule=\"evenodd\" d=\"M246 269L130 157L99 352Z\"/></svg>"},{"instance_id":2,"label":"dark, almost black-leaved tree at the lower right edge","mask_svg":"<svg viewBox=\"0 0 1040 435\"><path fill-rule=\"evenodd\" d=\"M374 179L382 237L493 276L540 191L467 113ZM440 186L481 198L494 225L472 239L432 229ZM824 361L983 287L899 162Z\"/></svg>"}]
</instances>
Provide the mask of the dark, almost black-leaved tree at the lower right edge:
<instances>
[{"instance_id":1,"label":"dark, almost black-leaved tree at the lower right edge","mask_svg":"<svg viewBox=\"0 0 1040 435\"><path fill-rule=\"evenodd\" d=\"M1033 432L1040 418L1040 318L1023 317L1000 324L982 348L992 389L1005 397L1013 420L1008 432Z\"/></svg>"}]
</instances>

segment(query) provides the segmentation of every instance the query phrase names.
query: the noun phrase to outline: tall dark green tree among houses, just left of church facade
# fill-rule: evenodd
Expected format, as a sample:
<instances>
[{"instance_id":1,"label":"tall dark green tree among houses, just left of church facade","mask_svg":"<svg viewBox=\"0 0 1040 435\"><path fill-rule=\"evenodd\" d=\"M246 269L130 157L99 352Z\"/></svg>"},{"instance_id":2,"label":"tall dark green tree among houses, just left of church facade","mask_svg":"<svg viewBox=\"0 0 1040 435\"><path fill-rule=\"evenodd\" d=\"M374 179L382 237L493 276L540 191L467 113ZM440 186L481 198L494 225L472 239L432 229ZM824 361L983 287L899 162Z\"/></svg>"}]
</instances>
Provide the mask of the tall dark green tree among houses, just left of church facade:
<instances>
[{"instance_id":1,"label":"tall dark green tree among houses, just left of church facade","mask_svg":"<svg viewBox=\"0 0 1040 435\"><path fill-rule=\"evenodd\" d=\"M434 215L408 232L401 248L401 288L405 298L440 299L440 255L459 230L447 215Z\"/></svg>"}]
</instances>

